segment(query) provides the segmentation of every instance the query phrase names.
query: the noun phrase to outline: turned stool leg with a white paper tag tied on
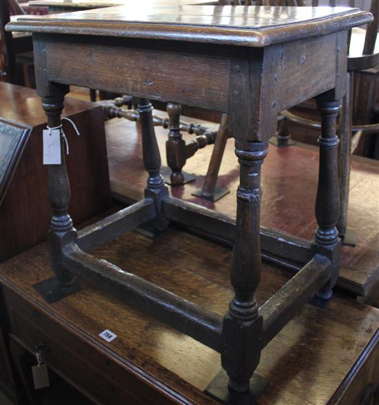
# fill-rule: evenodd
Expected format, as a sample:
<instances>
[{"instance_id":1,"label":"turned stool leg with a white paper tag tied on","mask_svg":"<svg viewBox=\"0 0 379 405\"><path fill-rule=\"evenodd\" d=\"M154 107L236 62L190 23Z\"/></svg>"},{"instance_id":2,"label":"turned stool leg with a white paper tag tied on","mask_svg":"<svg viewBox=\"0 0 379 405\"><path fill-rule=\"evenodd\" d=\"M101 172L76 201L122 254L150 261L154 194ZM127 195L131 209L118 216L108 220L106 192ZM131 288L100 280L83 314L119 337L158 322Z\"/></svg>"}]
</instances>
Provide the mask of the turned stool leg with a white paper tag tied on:
<instances>
[{"instance_id":1,"label":"turned stool leg with a white paper tag tied on","mask_svg":"<svg viewBox=\"0 0 379 405\"><path fill-rule=\"evenodd\" d=\"M42 107L48 117L48 126L61 124L64 97L43 97ZM57 288L67 289L74 284L75 277L63 266L62 250L76 238L76 230L68 215L70 203L70 183L65 166L65 148L61 136L61 164L48 166L48 196L52 208L52 219L48 234L52 269L58 281Z\"/></svg>"}]
</instances>

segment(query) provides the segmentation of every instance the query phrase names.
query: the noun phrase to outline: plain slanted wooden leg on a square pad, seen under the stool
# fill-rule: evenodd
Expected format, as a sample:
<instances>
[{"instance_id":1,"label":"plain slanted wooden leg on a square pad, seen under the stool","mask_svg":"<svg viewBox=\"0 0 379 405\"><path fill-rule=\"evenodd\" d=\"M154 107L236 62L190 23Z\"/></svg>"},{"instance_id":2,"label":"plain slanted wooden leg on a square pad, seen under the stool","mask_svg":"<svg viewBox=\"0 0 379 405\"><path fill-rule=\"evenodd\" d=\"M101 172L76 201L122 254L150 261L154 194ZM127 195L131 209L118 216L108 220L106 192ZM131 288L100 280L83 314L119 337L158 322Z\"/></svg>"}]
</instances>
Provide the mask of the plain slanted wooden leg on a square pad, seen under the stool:
<instances>
[{"instance_id":1,"label":"plain slanted wooden leg on a square pad, seen under the stool","mask_svg":"<svg viewBox=\"0 0 379 405\"><path fill-rule=\"evenodd\" d=\"M203 197L205 199L209 199L210 201L217 201L230 192L227 188L216 188L218 172L220 170L228 137L229 115L223 114L223 117L221 117L220 127L218 128L216 140L214 141L214 149L209 161L208 171L204 179L203 188L194 191L192 195L196 195L196 197Z\"/></svg>"}]
</instances>

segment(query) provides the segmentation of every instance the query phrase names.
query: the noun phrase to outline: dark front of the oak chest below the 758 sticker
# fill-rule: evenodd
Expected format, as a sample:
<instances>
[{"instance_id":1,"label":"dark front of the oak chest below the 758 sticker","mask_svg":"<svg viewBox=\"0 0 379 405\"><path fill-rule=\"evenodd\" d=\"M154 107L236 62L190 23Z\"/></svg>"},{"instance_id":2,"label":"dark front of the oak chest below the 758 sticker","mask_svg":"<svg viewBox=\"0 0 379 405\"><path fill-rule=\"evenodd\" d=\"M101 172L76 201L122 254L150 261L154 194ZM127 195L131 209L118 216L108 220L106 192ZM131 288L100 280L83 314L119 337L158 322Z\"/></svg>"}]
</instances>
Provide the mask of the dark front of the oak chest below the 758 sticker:
<instances>
[{"instance_id":1,"label":"dark front of the oak chest below the 758 sticker","mask_svg":"<svg viewBox=\"0 0 379 405\"><path fill-rule=\"evenodd\" d=\"M181 403L154 389L143 375L136 375L139 371L132 364L120 364L94 342L81 339L12 291L7 291L6 301L15 339L31 353L43 343L48 366L97 404Z\"/></svg>"}]
</instances>

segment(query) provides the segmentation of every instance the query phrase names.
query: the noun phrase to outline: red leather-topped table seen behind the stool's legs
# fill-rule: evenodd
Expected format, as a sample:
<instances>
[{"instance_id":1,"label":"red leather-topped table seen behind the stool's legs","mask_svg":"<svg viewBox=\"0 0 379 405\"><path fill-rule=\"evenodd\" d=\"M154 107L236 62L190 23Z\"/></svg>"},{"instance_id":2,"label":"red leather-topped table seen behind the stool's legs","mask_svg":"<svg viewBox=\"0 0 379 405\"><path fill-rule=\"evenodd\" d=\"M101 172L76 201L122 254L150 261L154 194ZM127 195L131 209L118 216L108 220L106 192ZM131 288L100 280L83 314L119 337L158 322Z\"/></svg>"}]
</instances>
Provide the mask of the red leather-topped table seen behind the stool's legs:
<instances>
[{"instance_id":1,"label":"red leather-topped table seen behind the stool's legs","mask_svg":"<svg viewBox=\"0 0 379 405\"><path fill-rule=\"evenodd\" d=\"M157 112L159 113L159 112ZM214 125L214 124L209 124ZM110 165L111 189L118 195L138 200L143 197L146 173L141 161L141 137L136 124L124 119L106 123L107 152ZM163 164L166 164L165 141L167 130L156 127ZM186 139L192 139L186 135ZM212 203L194 197L200 188L209 164L213 146L199 150L185 165L185 171L196 175L196 181L171 188L174 197L182 198L217 210L232 217L236 213L238 164L234 142L229 139L221 164L219 185L231 192ZM318 179L318 149L305 144L290 148L269 146L263 164L263 202L261 225L291 235L312 239L316 228L314 201ZM343 246L340 286L356 295L367 295L379 275L379 163L353 157L349 226L358 229L358 245Z\"/></svg>"}]
</instances>

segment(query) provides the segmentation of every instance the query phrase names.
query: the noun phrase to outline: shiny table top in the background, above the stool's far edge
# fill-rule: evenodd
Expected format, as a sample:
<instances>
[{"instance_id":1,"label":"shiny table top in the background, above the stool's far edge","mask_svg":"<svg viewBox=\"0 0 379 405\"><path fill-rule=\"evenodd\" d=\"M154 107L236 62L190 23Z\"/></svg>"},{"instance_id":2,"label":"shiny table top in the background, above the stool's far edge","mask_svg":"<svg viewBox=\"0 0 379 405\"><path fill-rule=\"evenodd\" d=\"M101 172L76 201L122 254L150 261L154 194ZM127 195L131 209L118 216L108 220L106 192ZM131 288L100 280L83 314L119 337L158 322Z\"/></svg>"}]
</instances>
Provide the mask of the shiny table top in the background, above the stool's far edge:
<instances>
[{"instance_id":1,"label":"shiny table top in the background, above the stool's far edge","mask_svg":"<svg viewBox=\"0 0 379 405\"><path fill-rule=\"evenodd\" d=\"M32 7L54 7L54 8L102 8L112 6L139 6L139 8L150 8L155 4L210 4L217 3L217 0L32 0L28 6Z\"/></svg>"}]
</instances>

